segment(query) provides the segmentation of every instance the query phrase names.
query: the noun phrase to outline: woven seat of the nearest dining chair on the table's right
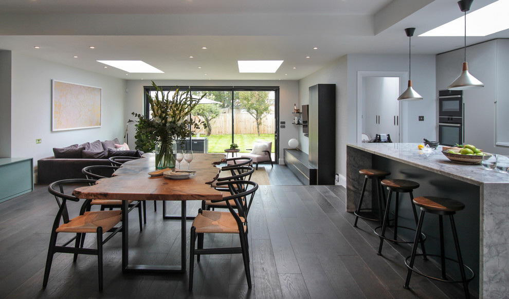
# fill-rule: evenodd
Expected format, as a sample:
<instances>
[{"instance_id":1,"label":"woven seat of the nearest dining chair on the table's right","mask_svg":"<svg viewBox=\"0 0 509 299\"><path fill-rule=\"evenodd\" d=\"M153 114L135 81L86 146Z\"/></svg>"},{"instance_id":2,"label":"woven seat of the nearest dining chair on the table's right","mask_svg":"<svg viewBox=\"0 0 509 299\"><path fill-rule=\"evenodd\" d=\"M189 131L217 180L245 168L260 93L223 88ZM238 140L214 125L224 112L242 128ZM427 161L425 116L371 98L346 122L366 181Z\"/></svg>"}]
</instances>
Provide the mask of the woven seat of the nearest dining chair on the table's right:
<instances>
[{"instance_id":1,"label":"woven seat of the nearest dining chair on the table's right","mask_svg":"<svg viewBox=\"0 0 509 299\"><path fill-rule=\"evenodd\" d=\"M242 222L244 218L240 217ZM196 228L196 233L212 233L212 234L238 234L239 227L237 221L230 212L219 211L202 211L194 218L193 227ZM244 231L246 231L244 226Z\"/></svg>"}]
</instances>

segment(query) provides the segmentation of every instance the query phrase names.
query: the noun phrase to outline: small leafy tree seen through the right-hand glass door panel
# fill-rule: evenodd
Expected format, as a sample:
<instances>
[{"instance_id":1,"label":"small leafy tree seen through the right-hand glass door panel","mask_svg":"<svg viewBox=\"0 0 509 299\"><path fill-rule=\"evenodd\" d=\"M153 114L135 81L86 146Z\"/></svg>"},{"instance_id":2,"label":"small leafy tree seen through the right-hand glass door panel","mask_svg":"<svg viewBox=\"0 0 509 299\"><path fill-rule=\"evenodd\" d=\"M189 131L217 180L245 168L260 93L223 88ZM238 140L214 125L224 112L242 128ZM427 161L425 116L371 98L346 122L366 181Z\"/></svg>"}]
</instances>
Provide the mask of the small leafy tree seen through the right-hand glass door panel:
<instances>
[{"instance_id":1,"label":"small leafy tree seen through the right-hand glass door panel","mask_svg":"<svg viewBox=\"0 0 509 299\"><path fill-rule=\"evenodd\" d=\"M237 95L238 99L235 100L238 100L240 106L255 118L257 133L260 136L262 119L270 113L269 91L238 91Z\"/></svg>"}]
</instances>

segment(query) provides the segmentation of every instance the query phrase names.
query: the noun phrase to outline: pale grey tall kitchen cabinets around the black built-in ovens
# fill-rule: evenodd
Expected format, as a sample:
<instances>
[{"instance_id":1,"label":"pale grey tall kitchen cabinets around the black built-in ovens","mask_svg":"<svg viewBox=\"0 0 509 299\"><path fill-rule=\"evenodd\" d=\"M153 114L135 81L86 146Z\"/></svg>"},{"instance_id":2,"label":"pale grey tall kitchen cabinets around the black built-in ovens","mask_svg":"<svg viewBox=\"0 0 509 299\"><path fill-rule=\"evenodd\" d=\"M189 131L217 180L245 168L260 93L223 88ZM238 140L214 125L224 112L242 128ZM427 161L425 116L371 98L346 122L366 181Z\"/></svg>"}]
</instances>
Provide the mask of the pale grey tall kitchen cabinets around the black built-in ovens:
<instances>
[{"instance_id":1,"label":"pale grey tall kitchen cabinets around the black built-in ovens","mask_svg":"<svg viewBox=\"0 0 509 299\"><path fill-rule=\"evenodd\" d=\"M504 53L500 59L499 54ZM495 101L507 103L507 55L509 42L494 40L467 48L468 69L472 76L484 83L483 88L463 91L465 104L465 144L473 144L488 153L509 154L506 148L495 147ZM447 89L462 70L464 50L437 55L437 90ZM505 70L505 78L499 76ZM507 118L506 111L502 117ZM501 128L505 132L508 127ZM509 140L507 140L509 141Z\"/></svg>"}]
</instances>

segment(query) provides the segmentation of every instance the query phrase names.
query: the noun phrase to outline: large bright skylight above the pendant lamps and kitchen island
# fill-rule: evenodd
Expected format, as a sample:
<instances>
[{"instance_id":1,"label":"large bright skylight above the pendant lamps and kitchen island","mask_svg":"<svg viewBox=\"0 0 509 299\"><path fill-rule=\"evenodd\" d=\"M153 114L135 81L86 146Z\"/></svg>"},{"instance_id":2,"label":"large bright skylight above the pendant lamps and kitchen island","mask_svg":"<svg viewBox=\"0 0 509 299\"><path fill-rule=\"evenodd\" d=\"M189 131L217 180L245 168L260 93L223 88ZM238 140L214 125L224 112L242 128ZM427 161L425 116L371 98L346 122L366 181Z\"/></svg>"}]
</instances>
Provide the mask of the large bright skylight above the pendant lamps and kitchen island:
<instances>
[{"instance_id":1,"label":"large bright skylight above the pendant lamps and kitchen island","mask_svg":"<svg viewBox=\"0 0 509 299\"><path fill-rule=\"evenodd\" d=\"M509 0L499 0L471 13L467 13L467 36L486 36L509 29ZM463 36L464 16L424 32L419 36Z\"/></svg>"}]
</instances>

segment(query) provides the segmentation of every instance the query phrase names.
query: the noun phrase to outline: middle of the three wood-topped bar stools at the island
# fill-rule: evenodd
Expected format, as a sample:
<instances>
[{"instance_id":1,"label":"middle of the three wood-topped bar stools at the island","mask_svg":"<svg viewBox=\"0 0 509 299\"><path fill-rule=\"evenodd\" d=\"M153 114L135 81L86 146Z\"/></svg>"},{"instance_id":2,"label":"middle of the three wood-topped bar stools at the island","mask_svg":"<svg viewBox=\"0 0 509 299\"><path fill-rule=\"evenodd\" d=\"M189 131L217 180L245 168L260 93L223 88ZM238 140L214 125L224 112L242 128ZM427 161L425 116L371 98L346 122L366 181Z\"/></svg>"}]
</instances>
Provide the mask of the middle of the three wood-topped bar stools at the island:
<instances>
[{"instance_id":1,"label":"middle of the three wood-topped bar stools at the island","mask_svg":"<svg viewBox=\"0 0 509 299\"><path fill-rule=\"evenodd\" d=\"M384 239L397 242L397 243L413 243L413 241L404 241L401 239L397 239L397 229L407 229L411 231L415 231L413 228L409 227L403 227L397 225L397 218L398 218L398 210L399 210L399 193L409 193L410 194L410 200L413 200L413 190L419 188L419 183L410 181L410 180L402 180L402 179L387 179L380 182L381 185L387 188L389 190L389 197L387 199L387 207L385 208L385 215L384 215L384 221L381 226L375 228L373 231L377 236L380 237L380 245L378 246L378 252L376 254L381 255L382 247L384 246ZM389 222L389 207L391 205L391 198L392 193L396 193L396 202L394 206L394 235L393 238L386 237L385 232L387 230L388 222ZM417 219L417 211L415 209L415 204L413 201L412 203L412 210L413 210L413 217L415 219L415 227L417 227L417 222L419 219ZM377 230L381 228L381 233L378 233ZM426 250L424 249L424 240L426 239L426 236L422 234L422 236L419 238L419 242L421 242L421 248L423 250L424 259L426 259Z\"/></svg>"}]
</instances>

